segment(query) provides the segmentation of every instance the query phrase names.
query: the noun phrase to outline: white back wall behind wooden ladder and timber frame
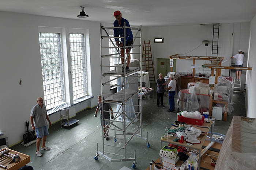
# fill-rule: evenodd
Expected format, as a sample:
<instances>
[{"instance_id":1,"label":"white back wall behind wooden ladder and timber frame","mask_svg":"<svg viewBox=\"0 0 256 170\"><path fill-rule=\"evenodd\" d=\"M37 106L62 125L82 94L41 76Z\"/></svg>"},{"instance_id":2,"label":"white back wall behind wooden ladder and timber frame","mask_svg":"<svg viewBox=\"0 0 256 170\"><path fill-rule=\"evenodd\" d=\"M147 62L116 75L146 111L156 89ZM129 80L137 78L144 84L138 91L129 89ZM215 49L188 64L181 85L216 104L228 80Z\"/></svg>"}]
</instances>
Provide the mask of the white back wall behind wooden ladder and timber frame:
<instances>
[{"instance_id":1,"label":"white back wall behind wooden ladder and timber frame","mask_svg":"<svg viewBox=\"0 0 256 170\"><path fill-rule=\"evenodd\" d=\"M165 27L143 27L143 40L150 40L152 55L154 57L154 70L157 75L157 58L168 58L173 54L187 53L197 46L199 46L203 40L209 40L208 48L202 44L195 51L189 52L185 55L192 56L211 56L212 48L212 24L208 25L182 25L182 26L165 26ZM233 52L230 54L230 41L231 33L234 32L234 44ZM163 37L164 43L154 43L154 37ZM249 40L249 23L230 23L220 24L219 30L219 50L218 56L224 56L224 60L229 59L232 55L237 54L239 49L242 49L245 54L248 49ZM207 49L206 49L207 48ZM231 49L231 50L232 50ZM196 61L197 67L202 67L205 61ZM190 60L177 60L176 71L177 72L191 72ZM231 61L223 63L223 66L229 66ZM246 64L246 60L245 63ZM205 68L205 72L210 69ZM203 72L203 70L196 70L197 73ZM245 73L245 72L244 72ZM223 75L228 75L228 70L222 70ZM245 77L245 76L244 76ZM243 83L242 83L243 84Z\"/></svg>"}]
</instances>

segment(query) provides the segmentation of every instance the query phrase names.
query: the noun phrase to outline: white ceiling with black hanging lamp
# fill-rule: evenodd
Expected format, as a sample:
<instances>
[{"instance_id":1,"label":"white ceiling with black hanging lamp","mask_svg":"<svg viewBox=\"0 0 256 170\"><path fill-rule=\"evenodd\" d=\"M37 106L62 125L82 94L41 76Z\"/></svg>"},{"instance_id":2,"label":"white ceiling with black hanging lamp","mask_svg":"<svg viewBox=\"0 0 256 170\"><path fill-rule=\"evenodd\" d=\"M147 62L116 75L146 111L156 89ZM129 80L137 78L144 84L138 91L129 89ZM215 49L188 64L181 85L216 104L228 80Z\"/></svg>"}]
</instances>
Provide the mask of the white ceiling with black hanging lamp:
<instances>
[{"instance_id":1,"label":"white ceiling with black hanging lamp","mask_svg":"<svg viewBox=\"0 0 256 170\"><path fill-rule=\"evenodd\" d=\"M121 11L131 25L162 26L251 21L256 0L0 0L0 11L113 23Z\"/></svg>"}]
</instances>

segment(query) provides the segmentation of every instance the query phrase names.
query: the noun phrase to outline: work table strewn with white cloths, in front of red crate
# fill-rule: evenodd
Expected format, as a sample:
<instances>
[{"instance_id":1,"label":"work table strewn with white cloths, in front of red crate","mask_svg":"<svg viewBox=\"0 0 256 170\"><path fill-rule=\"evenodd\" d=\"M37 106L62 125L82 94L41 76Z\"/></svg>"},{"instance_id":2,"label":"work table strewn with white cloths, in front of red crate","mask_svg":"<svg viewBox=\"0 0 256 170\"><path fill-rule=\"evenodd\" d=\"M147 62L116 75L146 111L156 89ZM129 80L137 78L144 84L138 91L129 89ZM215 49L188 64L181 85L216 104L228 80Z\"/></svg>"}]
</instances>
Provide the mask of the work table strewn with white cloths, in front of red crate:
<instances>
[{"instance_id":1,"label":"work table strewn with white cloths, in front of red crate","mask_svg":"<svg viewBox=\"0 0 256 170\"><path fill-rule=\"evenodd\" d=\"M162 149L163 142L171 143L171 144L173 144L173 145L188 147L188 148L190 148L190 149L196 149L196 150L198 150L198 152L199 152L199 158L201 158L201 149L202 149L203 143L204 143L204 141L205 141L205 139L206 139L206 136L207 136L207 134L208 134L210 128L211 128L211 136L212 136L212 121L210 121L210 120L208 120L208 121L209 121L209 123L204 122L203 125L202 125L202 126L208 126L208 128L197 127L197 126L199 126L199 125L193 125L193 124L191 124L193 127L197 128L197 129L200 129L202 132L206 132L206 134L204 135L204 137L203 137L202 139L197 138L198 140L201 141L201 143L199 143L199 144L193 144L192 146L189 146L189 145L187 145L188 142L186 142L185 140L184 140L184 143L174 142L173 139L175 139L175 138L177 138L177 137L170 137L170 138L167 138L167 139L165 139L165 140L162 140L162 139L161 139L161 149ZM171 127L171 129L172 129L172 128L173 128L173 126ZM201 160L201 159L199 159L199 161L198 161L199 167L200 167L200 160ZM161 160L160 162L162 163L162 160Z\"/></svg>"}]
</instances>

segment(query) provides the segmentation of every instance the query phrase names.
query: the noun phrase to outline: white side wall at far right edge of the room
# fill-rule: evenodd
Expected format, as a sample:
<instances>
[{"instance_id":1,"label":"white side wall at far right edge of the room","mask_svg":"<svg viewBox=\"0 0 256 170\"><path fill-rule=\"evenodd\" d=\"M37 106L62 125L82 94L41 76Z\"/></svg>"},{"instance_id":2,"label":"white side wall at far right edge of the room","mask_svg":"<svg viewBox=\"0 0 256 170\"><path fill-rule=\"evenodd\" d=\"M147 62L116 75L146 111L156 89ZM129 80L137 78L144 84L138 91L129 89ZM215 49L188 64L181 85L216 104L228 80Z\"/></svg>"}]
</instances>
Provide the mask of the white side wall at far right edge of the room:
<instances>
[{"instance_id":1,"label":"white side wall at far right edge of the room","mask_svg":"<svg viewBox=\"0 0 256 170\"><path fill-rule=\"evenodd\" d=\"M251 21L250 25L250 44L249 44L249 54L248 54L248 65L247 67L252 67L252 70L247 71L246 77L246 116L251 118L256 118L256 15Z\"/></svg>"}]
</instances>

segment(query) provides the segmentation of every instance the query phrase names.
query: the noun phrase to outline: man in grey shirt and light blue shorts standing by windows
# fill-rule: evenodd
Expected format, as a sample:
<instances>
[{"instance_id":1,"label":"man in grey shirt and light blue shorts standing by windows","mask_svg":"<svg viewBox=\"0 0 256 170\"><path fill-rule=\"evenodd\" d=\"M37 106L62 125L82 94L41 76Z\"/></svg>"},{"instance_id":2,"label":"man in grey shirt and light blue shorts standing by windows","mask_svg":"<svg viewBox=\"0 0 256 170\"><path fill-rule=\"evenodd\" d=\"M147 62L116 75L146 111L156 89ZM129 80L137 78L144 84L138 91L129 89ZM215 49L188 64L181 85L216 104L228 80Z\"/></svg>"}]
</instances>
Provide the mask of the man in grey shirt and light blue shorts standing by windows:
<instances>
[{"instance_id":1,"label":"man in grey shirt and light blue shorts standing by windows","mask_svg":"<svg viewBox=\"0 0 256 170\"><path fill-rule=\"evenodd\" d=\"M35 154L38 157L42 156L42 154L39 151L39 146L42 139L43 139L43 142L42 142L41 150L50 150L49 147L45 146L46 137L47 135L49 135L48 123L46 120L48 120L49 126L52 126L52 123L47 115L47 110L43 101L44 100L42 97L37 98L37 104L34 107L32 107L31 113L30 113L30 123L31 123L32 129L35 130L37 134L37 145L36 145L37 150L35 151ZM33 123L33 118L34 118L35 124Z\"/></svg>"}]
</instances>

